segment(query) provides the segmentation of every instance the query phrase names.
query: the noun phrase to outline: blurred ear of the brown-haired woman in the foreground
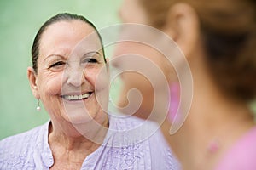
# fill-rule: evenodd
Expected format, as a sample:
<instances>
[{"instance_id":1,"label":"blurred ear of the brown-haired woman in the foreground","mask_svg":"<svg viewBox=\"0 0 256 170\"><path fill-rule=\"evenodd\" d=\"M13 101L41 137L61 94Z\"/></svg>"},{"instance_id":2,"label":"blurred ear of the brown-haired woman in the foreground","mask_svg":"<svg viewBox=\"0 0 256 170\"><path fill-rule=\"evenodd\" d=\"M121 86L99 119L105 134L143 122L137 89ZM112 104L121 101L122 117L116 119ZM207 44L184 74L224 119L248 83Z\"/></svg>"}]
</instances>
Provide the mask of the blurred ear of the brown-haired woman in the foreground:
<instances>
[{"instance_id":1,"label":"blurred ear of the brown-haired woman in the foreground","mask_svg":"<svg viewBox=\"0 0 256 170\"><path fill-rule=\"evenodd\" d=\"M187 3L175 3L169 9L164 31L177 43L186 57L200 39L200 24L195 9Z\"/></svg>"}]
</instances>

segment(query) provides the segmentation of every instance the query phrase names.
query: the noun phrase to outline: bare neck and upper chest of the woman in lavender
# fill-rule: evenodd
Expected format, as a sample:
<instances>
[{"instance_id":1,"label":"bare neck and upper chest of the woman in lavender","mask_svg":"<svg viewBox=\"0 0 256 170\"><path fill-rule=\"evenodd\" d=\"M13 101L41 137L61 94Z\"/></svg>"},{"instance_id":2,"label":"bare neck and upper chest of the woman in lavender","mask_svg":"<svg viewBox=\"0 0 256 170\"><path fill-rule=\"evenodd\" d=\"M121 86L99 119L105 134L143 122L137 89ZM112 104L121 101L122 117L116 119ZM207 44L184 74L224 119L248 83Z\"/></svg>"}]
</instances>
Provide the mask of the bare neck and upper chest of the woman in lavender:
<instances>
[{"instance_id":1,"label":"bare neck and upper chest of the woman in lavender","mask_svg":"<svg viewBox=\"0 0 256 170\"><path fill-rule=\"evenodd\" d=\"M82 129L86 131L82 132ZM84 159L102 145L107 132L108 117L101 124L72 125L65 122L65 126L60 126L52 121L48 139L55 161L51 169L80 169Z\"/></svg>"}]
</instances>

